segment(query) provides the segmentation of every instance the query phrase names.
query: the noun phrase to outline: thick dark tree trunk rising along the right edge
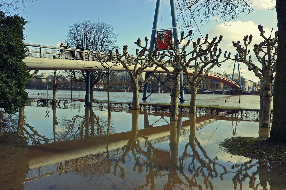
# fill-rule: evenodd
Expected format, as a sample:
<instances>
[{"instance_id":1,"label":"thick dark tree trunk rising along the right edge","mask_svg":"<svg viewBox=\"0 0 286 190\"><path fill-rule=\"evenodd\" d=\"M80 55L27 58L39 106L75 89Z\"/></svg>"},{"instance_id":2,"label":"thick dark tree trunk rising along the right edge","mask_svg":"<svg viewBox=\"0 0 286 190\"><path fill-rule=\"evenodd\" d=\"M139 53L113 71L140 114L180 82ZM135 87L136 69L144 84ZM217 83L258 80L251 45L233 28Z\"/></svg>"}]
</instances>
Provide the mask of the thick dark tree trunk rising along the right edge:
<instances>
[{"instance_id":1,"label":"thick dark tree trunk rising along the right edge","mask_svg":"<svg viewBox=\"0 0 286 190\"><path fill-rule=\"evenodd\" d=\"M276 0L278 54L274 82L273 121L269 140L286 142L286 1Z\"/></svg>"}]
</instances>

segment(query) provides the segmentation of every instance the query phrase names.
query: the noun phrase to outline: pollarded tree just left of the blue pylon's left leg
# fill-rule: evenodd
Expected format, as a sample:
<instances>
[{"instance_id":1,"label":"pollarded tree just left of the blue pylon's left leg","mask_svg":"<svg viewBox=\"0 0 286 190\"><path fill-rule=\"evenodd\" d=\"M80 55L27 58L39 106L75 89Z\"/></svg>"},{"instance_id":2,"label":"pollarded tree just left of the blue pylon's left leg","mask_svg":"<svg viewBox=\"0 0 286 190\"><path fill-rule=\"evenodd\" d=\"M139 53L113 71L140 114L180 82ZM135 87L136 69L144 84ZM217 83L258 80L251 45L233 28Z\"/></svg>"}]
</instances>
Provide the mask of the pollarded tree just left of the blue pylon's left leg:
<instances>
[{"instance_id":1,"label":"pollarded tree just left of the blue pylon's left leg","mask_svg":"<svg viewBox=\"0 0 286 190\"><path fill-rule=\"evenodd\" d=\"M141 40L138 39L137 42L135 43L141 44ZM146 43L146 46L147 44L148 43ZM156 73L158 67L154 67L149 77L145 81L142 81L142 83L138 84L139 80L142 78L142 72L144 71L144 69L152 68L154 66L153 61L150 61L150 59L148 58L148 54L145 54L146 47L141 51L139 51L139 49L136 49L136 57L133 57L133 55L129 57L127 49L128 49L127 45L123 46L122 55L120 55L118 49L116 49L115 51L116 55L112 55L112 51L110 51L110 56L114 61L118 61L119 63L121 63L124 69L126 69L126 71L128 72L132 83L132 93L133 93L131 109L139 109L140 85L143 85L146 82L148 82L149 79L154 75L154 73Z\"/></svg>"}]
</instances>

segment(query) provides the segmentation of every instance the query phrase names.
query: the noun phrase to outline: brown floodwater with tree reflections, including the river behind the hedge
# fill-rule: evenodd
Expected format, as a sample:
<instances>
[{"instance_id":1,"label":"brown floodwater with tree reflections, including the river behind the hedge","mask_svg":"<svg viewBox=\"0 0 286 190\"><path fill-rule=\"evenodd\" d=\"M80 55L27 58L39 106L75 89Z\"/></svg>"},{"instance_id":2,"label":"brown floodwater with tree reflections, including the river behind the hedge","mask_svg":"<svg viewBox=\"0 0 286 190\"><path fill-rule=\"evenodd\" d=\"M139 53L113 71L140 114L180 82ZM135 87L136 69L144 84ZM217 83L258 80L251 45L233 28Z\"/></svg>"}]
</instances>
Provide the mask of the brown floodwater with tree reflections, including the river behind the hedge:
<instances>
[{"instance_id":1,"label":"brown floodwater with tree reflections, including the river behind the hedge","mask_svg":"<svg viewBox=\"0 0 286 190\"><path fill-rule=\"evenodd\" d=\"M34 91L30 97L41 96ZM68 99L70 93L58 91L57 97ZM72 93L73 99L84 97ZM105 100L106 92L94 96ZM132 93L111 96L126 101ZM154 94L149 101L168 96ZM259 104L259 96L240 96L240 103L238 97L225 95L226 104ZM197 104L214 100L223 104L224 97L198 95ZM1 130L18 131L25 139L0 142L0 189L286 189L285 166L234 156L220 146L233 136L269 137L257 114L249 114L179 113L178 121L170 122L168 113L113 108L109 118L96 104L85 108L84 102L61 100L51 107L33 99L17 114L2 113Z\"/></svg>"}]
</instances>

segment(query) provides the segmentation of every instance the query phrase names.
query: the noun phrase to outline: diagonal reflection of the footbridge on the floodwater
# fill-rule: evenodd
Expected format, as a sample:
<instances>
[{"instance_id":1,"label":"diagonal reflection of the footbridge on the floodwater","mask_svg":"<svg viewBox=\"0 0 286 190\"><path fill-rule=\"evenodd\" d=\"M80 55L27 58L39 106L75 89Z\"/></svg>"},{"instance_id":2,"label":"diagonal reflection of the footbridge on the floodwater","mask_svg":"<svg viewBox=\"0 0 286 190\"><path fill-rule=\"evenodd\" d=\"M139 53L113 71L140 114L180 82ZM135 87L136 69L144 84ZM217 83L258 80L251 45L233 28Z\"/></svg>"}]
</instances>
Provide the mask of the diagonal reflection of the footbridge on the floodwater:
<instances>
[{"instance_id":1,"label":"diagonal reflection of the footbridge on the floodwater","mask_svg":"<svg viewBox=\"0 0 286 190\"><path fill-rule=\"evenodd\" d=\"M201 117L196 119L196 129L202 128L208 123L215 121ZM180 127L181 126L181 127ZM182 121L178 123L178 135L188 133L190 129L190 121ZM141 129L139 133L148 138L151 144L155 144L167 140L170 135L170 125L162 125L151 129ZM111 155L118 154L118 151L128 143L130 131L118 134L110 134L108 137L108 150ZM144 143L146 139L137 137L140 143ZM26 157L29 163L29 173L26 177L27 181L59 173L80 167L82 165L96 162L106 152L106 136L94 138L76 139L71 141L61 141L56 143L48 143L37 146L30 146ZM144 145L143 145L144 146ZM76 148L78 147L78 148ZM93 156L96 155L96 156Z\"/></svg>"}]
</instances>

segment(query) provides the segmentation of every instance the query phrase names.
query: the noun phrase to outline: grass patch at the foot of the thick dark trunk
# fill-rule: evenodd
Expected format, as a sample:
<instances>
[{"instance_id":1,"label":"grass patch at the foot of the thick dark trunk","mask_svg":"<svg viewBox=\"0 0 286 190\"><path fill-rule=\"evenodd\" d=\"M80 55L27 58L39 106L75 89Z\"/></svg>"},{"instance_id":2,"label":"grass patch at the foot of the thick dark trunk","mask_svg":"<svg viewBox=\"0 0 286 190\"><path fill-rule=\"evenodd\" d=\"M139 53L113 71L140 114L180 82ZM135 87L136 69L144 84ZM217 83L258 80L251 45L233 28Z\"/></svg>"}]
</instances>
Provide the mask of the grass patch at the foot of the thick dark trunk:
<instances>
[{"instance_id":1,"label":"grass patch at the foot of the thick dark trunk","mask_svg":"<svg viewBox=\"0 0 286 190\"><path fill-rule=\"evenodd\" d=\"M222 144L233 155L271 162L286 162L286 143L254 137L232 137Z\"/></svg>"}]
</instances>

